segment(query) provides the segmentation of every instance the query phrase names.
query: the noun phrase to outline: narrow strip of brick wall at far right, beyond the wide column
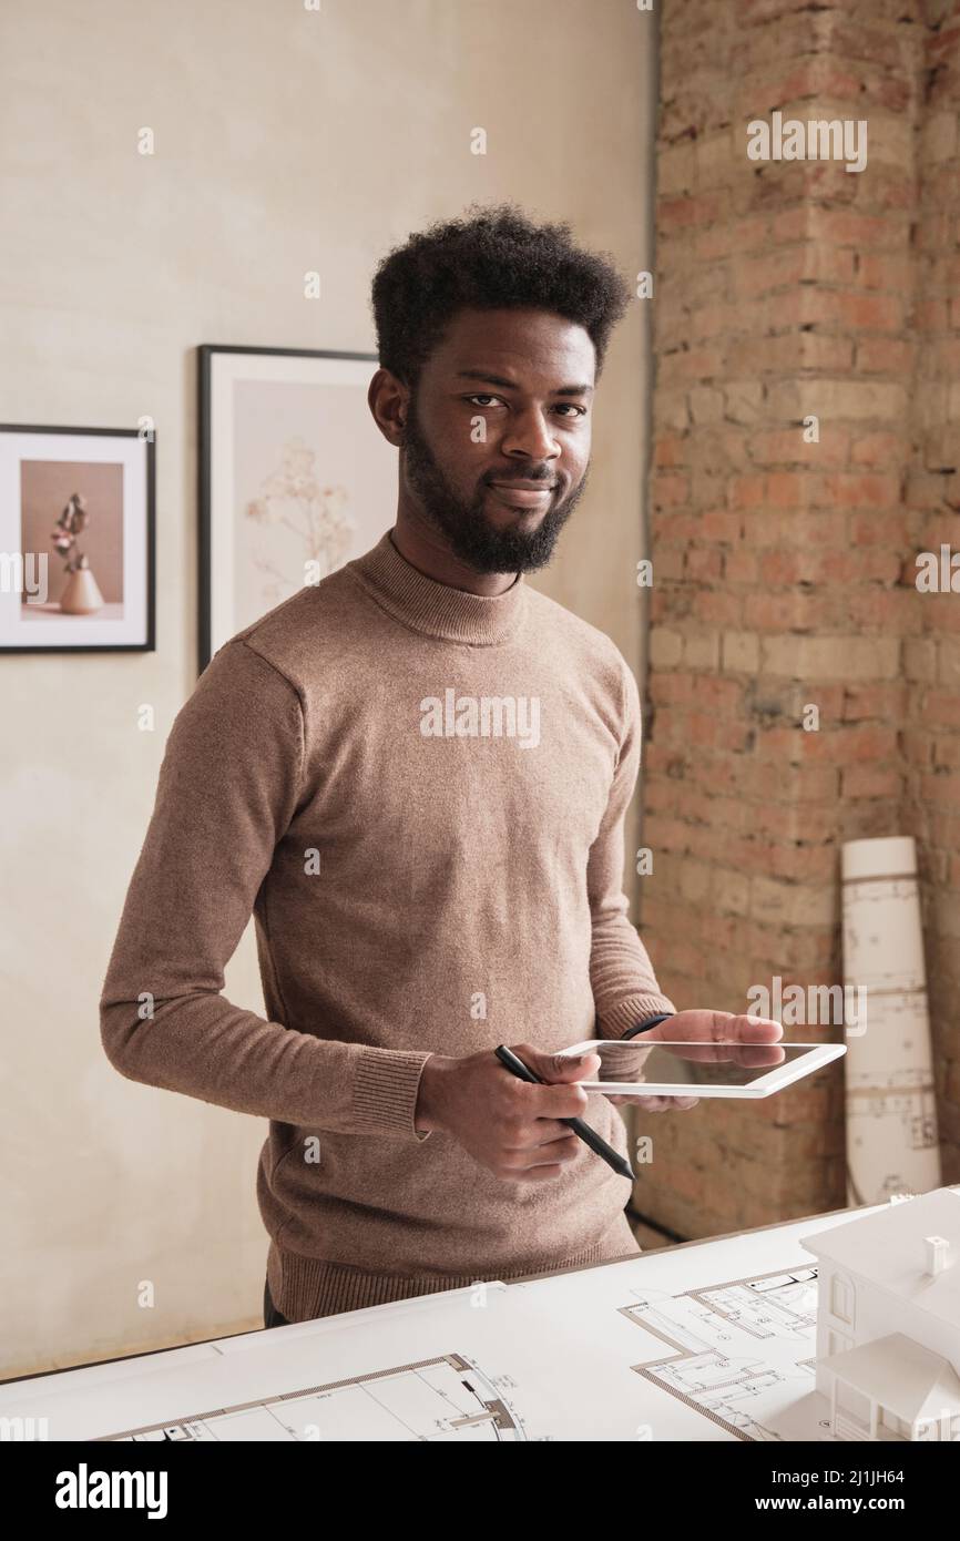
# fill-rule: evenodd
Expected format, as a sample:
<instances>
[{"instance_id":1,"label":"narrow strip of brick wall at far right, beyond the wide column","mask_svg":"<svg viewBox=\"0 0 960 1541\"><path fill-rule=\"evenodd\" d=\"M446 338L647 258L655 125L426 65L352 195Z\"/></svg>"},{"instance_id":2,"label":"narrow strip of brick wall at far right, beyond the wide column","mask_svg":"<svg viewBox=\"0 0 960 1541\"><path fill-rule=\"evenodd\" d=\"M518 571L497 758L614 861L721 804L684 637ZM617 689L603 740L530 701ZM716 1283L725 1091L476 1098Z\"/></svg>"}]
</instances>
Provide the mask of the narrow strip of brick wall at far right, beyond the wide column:
<instances>
[{"instance_id":1,"label":"narrow strip of brick wall at far right, beyond the wide column","mask_svg":"<svg viewBox=\"0 0 960 1541\"><path fill-rule=\"evenodd\" d=\"M915 458L906 482L909 562L960 552L960 3L928 0L914 239ZM954 579L960 590L960 573ZM915 593L905 647L903 828L923 874L928 989L945 1182L960 1180L960 592Z\"/></svg>"}]
</instances>

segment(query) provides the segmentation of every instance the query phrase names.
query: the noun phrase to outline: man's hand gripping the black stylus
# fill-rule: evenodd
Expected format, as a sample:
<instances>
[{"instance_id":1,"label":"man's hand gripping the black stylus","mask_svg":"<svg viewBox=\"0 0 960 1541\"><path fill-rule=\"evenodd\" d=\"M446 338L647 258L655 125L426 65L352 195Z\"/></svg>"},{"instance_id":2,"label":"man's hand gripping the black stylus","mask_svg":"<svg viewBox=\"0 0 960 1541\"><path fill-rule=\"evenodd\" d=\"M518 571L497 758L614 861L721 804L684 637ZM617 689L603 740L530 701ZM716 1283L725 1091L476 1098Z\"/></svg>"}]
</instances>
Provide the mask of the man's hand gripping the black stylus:
<instances>
[{"instance_id":1,"label":"man's hand gripping the black stylus","mask_svg":"<svg viewBox=\"0 0 960 1541\"><path fill-rule=\"evenodd\" d=\"M450 1059L431 1054L421 1071L415 1126L442 1130L507 1182L549 1182L587 1147L559 1119L582 1117L589 1097L578 1080L596 1079L599 1054L559 1059L530 1043L509 1045L550 1085L519 1080L493 1049Z\"/></svg>"}]
</instances>

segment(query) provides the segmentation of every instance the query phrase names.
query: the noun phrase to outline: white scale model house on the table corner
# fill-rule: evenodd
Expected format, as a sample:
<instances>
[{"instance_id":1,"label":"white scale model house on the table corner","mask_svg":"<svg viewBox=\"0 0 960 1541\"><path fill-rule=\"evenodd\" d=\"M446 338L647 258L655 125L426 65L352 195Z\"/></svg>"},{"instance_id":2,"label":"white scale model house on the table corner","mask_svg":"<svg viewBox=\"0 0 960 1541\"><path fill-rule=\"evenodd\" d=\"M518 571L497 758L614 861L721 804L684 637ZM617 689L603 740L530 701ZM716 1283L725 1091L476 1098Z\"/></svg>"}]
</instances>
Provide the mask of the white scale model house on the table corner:
<instances>
[{"instance_id":1,"label":"white scale model house on the table corner","mask_svg":"<svg viewBox=\"0 0 960 1541\"><path fill-rule=\"evenodd\" d=\"M960 1441L960 1188L801 1242L818 1259L817 1390L831 1433Z\"/></svg>"}]
</instances>

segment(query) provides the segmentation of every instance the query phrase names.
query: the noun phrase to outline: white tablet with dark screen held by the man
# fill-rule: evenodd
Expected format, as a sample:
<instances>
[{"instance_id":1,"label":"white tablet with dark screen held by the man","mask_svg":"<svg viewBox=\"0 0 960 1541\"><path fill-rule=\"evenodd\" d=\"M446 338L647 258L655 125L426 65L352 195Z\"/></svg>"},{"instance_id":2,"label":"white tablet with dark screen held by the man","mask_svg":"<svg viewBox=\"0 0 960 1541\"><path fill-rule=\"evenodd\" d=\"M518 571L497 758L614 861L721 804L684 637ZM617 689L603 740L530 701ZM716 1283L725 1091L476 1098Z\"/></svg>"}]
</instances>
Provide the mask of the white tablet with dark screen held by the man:
<instances>
[{"instance_id":1,"label":"white tablet with dark screen held by the man","mask_svg":"<svg viewBox=\"0 0 960 1541\"><path fill-rule=\"evenodd\" d=\"M616 1097L769 1097L846 1054L846 1043L709 1043L666 1039L589 1039L566 1056L599 1054L596 1080L584 1091Z\"/></svg>"}]
</instances>

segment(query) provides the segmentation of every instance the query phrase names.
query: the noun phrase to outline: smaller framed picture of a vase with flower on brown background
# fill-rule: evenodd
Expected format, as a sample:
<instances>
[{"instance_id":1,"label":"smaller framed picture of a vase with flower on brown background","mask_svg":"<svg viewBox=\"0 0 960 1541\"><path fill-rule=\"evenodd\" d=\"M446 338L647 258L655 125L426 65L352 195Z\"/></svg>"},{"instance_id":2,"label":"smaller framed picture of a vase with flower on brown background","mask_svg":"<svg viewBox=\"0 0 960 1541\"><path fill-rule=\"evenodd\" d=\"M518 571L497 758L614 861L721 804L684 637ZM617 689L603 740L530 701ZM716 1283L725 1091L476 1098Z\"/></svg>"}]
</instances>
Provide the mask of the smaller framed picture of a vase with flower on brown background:
<instances>
[{"instance_id":1,"label":"smaller framed picture of a vase with flower on brown background","mask_svg":"<svg viewBox=\"0 0 960 1541\"><path fill-rule=\"evenodd\" d=\"M0 652L153 652L154 433L0 424Z\"/></svg>"}]
</instances>

